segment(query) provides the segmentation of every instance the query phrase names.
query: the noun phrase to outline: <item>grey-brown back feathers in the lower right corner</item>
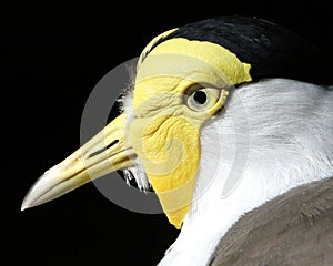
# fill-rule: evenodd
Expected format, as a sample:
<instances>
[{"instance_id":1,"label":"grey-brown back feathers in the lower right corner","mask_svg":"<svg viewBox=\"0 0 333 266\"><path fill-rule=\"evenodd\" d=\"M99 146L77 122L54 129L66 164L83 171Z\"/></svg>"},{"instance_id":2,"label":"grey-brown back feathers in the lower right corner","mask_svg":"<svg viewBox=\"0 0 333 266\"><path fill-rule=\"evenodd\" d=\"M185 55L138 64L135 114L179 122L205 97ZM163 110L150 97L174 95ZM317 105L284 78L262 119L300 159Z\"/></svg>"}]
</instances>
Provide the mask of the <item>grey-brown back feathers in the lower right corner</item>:
<instances>
[{"instance_id":1,"label":"grey-brown back feathers in the lower right corner","mask_svg":"<svg viewBox=\"0 0 333 266\"><path fill-rule=\"evenodd\" d=\"M242 216L211 266L321 265L333 262L333 177L293 188Z\"/></svg>"}]
</instances>

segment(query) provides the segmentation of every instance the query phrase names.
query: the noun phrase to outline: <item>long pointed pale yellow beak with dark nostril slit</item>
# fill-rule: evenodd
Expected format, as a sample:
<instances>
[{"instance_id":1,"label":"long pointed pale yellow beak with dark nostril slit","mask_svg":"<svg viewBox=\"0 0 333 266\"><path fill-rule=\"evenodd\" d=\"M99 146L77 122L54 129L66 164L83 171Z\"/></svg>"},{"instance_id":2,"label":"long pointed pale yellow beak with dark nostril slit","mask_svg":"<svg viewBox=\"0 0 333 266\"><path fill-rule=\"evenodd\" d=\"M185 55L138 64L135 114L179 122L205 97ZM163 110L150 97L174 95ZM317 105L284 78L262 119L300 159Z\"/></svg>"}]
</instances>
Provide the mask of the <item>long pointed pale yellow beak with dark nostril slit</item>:
<instances>
[{"instance_id":1,"label":"long pointed pale yellow beak with dark nostril slit","mask_svg":"<svg viewBox=\"0 0 333 266\"><path fill-rule=\"evenodd\" d=\"M125 142L120 114L82 147L47 171L30 188L21 209L54 200L92 180L132 165L135 153Z\"/></svg>"}]
</instances>

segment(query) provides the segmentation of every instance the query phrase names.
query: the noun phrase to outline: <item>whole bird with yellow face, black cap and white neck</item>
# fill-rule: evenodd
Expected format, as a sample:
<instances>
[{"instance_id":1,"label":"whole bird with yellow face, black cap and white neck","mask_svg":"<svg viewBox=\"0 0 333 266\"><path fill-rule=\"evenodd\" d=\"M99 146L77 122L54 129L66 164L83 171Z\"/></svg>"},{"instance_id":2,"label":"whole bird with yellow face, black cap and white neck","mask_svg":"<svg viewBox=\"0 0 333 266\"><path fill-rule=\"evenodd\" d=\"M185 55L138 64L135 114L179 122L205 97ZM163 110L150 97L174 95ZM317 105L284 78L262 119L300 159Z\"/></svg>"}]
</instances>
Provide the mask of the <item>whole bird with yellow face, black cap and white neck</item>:
<instances>
[{"instance_id":1,"label":"whole bird with yellow face, black cap and white neck","mask_svg":"<svg viewBox=\"0 0 333 266\"><path fill-rule=\"evenodd\" d=\"M321 51L255 17L153 38L117 116L21 209L114 171L181 229L159 265L331 265L333 89Z\"/></svg>"}]
</instances>

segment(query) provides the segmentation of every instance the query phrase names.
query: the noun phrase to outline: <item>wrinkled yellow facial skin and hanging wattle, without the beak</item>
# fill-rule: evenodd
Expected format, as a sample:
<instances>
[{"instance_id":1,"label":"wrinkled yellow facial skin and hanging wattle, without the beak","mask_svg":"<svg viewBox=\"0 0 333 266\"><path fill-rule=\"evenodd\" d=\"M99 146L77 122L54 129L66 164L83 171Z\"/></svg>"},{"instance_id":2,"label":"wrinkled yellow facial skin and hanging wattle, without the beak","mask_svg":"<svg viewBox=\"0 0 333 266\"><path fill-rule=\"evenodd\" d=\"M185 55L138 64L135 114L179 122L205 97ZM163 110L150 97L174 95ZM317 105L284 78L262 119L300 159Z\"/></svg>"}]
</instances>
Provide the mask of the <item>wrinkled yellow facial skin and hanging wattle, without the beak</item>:
<instances>
[{"instance_id":1,"label":"wrinkled yellow facial skin and hanging wattle, without the beak","mask_svg":"<svg viewBox=\"0 0 333 266\"><path fill-rule=\"evenodd\" d=\"M226 88L251 80L250 65L218 44L181 38L160 43L139 63L129 137L170 223L180 228L195 190L201 127L222 108ZM189 106L198 90L212 96Z\"/></svg>"}]
</instances>

